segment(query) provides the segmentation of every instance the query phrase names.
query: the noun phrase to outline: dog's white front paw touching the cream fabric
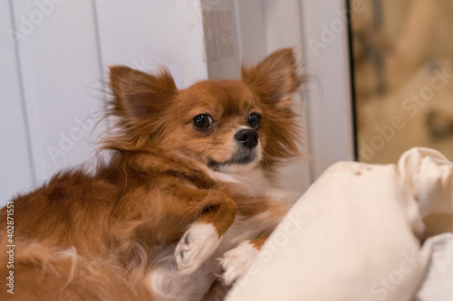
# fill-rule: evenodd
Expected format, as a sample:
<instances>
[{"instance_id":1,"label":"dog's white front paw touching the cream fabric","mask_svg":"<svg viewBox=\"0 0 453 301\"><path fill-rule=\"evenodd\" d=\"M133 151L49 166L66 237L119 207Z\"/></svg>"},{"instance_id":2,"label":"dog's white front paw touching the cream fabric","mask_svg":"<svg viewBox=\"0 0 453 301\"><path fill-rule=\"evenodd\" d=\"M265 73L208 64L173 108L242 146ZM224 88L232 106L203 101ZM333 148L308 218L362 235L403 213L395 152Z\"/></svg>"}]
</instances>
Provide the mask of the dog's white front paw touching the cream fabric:
<instances>
[{"instance_id":1,"label":"dog's white front paw touching the cream fabric","mask_svg":"<svg viewBox=\"0 0 453 301\"><path fill-rule=\"evenodd\" d=\"M233 285L238 278L246 274L257 253L258 249L250 243L250 240L246 240L224 254L220 265L223 270L222 279L226 286Z\"/></svg>"}]
</instances>

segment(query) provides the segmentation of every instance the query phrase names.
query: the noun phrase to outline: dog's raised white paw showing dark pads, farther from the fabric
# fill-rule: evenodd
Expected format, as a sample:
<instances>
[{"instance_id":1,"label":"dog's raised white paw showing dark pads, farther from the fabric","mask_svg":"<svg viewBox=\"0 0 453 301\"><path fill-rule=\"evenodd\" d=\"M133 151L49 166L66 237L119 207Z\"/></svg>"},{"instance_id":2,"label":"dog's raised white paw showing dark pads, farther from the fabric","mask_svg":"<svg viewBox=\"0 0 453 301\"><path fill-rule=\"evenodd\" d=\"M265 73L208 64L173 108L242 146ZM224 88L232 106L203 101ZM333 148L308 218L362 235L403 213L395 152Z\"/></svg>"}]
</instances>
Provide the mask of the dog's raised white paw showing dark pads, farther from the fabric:
<instances>
[{"instance_id":1,"label":"dog's raised white paw showing dark pads, farther from the fabric","mask_svg":"<svg viewBox=\"0 0 453 301\"><path fill-rule=\"evenodd\" d=\"M220 240L212 223L190 225L175 250L179 272L187 275L197 270L214 253Z\"/></svg>"}]
</instances>

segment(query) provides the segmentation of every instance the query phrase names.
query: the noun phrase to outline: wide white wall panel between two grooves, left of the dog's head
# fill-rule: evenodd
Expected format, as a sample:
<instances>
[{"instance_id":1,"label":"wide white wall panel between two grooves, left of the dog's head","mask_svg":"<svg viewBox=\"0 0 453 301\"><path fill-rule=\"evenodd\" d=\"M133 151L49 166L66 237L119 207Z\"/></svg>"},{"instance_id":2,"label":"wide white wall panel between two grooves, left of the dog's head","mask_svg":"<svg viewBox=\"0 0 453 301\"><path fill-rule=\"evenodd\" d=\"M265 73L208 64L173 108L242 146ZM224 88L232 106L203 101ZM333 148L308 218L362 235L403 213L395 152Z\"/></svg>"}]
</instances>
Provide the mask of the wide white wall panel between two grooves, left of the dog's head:
<instances>
[{"instance_id":1,"label":"wide white wall panel between two grooves, left of the dog's head","mask_svg":"<svg viewBox=\"0 0 453 301\"><path fill-rule=\"evenodd\" d=\"M92 155L89 116L101 108L93 97L101 74L92 2L14 1L14 20L34 169L42 182Z\"/></svg>"}]
</instances>

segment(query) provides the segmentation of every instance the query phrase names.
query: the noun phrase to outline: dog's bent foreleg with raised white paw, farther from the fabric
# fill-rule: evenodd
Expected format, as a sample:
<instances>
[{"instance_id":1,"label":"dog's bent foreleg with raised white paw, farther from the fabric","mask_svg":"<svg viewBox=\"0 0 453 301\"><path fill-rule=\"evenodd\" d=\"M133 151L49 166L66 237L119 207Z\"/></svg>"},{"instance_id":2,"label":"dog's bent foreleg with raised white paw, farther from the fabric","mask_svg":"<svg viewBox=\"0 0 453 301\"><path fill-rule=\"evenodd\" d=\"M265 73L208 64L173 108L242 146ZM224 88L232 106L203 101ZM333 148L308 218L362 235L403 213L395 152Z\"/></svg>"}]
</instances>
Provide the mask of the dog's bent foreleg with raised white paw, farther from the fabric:
<instances>
[{"instance_id":1,"label":"dog's bent foreleg with raised white paw, farther from the fabric","mask_svg":"<svg viewBox=\"0 0 453 301\"><path fill-rule=\"evenodd\" d=\"M194 272L214 253L236 217L236 203L223 193L210 192L199 208L200 218L188 227L175 250L183 274Z\"/></svg>"}]
</instances>

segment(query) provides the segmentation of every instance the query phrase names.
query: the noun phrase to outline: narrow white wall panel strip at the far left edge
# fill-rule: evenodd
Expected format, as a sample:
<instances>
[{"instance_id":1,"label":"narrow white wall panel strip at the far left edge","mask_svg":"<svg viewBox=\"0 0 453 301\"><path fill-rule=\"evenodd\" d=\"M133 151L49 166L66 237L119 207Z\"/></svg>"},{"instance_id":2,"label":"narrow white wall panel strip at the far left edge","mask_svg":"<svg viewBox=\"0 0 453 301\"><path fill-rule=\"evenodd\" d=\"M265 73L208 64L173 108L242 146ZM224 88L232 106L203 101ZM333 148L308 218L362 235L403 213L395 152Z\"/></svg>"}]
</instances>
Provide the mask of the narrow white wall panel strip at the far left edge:
<instances>
[{"instance_id":1,"label":"narrow white wall panel strip at the far left edge","mask_svg":"<svg viewBox=\"0 0 453 301\"><path fill-rule=\"evenodd\" d=\"M0 1L0 207L34 183L9 1Z\"/></svg>"}]
</instances>

